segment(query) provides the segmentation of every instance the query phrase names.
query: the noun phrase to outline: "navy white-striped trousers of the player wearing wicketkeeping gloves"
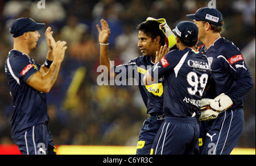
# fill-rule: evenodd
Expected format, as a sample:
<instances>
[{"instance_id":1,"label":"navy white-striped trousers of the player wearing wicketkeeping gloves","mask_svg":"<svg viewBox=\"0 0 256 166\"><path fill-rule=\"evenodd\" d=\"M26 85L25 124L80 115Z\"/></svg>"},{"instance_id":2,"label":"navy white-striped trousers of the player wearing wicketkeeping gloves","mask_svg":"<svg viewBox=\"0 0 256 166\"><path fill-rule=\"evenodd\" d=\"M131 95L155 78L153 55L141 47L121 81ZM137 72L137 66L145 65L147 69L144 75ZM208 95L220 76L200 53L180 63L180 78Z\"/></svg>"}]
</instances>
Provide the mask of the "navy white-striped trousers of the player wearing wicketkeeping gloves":
<instances>
[{"instance_id":1,"label":"navy white-striped trousers of the player wearing wicketkeeping gloves","mask_svg":"<svg viewBox=\"0 0 256 166\"><path fill-rule=\"evenodd\" d=\"M202 121L200 125L200 154L229 155L243 130L242 109L220 113L216 119Z\"/></svg>"}]
</instances>

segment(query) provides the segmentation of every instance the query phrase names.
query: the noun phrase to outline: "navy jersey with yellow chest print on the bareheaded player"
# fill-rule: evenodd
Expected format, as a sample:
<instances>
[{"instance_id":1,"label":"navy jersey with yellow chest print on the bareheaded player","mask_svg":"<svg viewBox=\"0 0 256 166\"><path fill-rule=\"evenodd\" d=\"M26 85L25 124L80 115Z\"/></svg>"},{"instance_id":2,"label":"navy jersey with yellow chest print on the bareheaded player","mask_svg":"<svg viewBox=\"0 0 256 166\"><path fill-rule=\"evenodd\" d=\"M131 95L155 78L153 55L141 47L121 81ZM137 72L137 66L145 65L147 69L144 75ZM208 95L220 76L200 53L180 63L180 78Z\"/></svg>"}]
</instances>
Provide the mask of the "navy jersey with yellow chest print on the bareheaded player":
<instances>
[{"instance_id":1,"label":"navy jersey with yellow chest print on the bareheaded player","mask_svg":"<svg viewBox=\"0 0 256 166\"><path fill-rule=\"evenodd\" d=\"M143 77L154 63L151 56L139 56L130 60L127 64L115 67L117 76L123 75L121 79L134 78L137 81L144 104L147 107L147 114L163 114L163 82L159 79L157 84L143 85ZM136 83L136 82L135 82Z\"/></svg>"}]
</instances>

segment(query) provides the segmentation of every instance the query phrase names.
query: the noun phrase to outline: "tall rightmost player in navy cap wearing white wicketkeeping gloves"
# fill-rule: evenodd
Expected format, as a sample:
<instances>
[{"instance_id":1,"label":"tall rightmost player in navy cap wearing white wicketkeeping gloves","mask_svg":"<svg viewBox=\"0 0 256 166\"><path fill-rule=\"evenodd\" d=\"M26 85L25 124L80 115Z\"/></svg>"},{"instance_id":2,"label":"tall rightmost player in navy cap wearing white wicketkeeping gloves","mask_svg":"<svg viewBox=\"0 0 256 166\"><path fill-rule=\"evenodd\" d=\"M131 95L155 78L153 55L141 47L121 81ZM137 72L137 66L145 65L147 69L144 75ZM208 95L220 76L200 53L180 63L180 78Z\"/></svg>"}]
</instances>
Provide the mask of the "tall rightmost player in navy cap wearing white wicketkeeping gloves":
<instances>
[{"instance_id":1,"label":"tall rightmost player in navy cap wearing white wicketkeeping gloves","mask_svg":"<svg viewBox=\"0 0 256 166\"><path fill-rule=\"evenodd\" d=\"M201 102L202 109L209 109L200 118L203 140L200 153L228 155L242 134L242 98L254 86L254 81L240 50L221 37L224 22L220 11L203 7L187 16L199 27L199 40L205 44L200 52L207 55L212 73L206 99Z\"/></svg>"}]
</instances>

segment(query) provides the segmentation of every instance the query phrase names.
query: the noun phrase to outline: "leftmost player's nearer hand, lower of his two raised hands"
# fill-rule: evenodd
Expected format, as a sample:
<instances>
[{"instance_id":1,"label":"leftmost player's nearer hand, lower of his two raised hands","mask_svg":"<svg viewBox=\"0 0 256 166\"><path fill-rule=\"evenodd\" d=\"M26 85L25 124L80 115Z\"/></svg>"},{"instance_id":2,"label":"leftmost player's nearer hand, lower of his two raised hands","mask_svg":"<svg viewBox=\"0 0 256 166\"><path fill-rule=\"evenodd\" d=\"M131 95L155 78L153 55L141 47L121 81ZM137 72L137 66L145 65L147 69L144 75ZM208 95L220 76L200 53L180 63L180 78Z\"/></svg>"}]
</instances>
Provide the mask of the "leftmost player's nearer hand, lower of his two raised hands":
<instances>
[{"instance_id":1,"label":"leftmost player's nearer hand, lower of his two raised hands","mask_svg":"<svg viewBox=\"0 0 256 166\"><path fill-rule=\"evenodd\" d=\"M53 47L54 61L59 61L59 62L63 61L65 50L68 48L67 46L64 46L65 44L67 44L67 42L58 41Z\"/></svg>"}]
</instances>

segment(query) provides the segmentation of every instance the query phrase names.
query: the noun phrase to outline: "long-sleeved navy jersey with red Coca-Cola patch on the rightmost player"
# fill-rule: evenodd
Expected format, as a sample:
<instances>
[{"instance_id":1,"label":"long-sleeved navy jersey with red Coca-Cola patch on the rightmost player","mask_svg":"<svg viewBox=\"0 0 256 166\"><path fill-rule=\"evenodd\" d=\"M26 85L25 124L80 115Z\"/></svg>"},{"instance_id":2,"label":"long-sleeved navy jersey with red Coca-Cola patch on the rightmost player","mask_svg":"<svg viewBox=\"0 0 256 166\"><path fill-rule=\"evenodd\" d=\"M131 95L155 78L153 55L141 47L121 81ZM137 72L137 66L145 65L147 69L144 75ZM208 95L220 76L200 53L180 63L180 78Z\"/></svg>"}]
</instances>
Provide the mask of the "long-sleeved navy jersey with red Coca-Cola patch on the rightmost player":
<instances>
[{"instance_id":1,"label":"long-sleeved navy jersey with red Coca-Cola patch on the rightmost player","mask_svg":"<svg viewBox=\"0 0 256 166\"><path fill-rule=\"evenodd\" d=\"M240 50L229 40L219 38L207 50L203 46L200 52L211 63L212 79L205 98L225 93L234 103L229 110L242 108L242 98L253 87L254 81Z\"/></svg>"}]
</instances>

